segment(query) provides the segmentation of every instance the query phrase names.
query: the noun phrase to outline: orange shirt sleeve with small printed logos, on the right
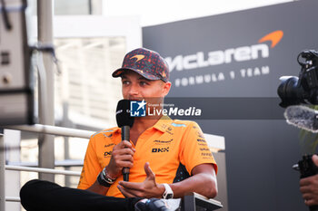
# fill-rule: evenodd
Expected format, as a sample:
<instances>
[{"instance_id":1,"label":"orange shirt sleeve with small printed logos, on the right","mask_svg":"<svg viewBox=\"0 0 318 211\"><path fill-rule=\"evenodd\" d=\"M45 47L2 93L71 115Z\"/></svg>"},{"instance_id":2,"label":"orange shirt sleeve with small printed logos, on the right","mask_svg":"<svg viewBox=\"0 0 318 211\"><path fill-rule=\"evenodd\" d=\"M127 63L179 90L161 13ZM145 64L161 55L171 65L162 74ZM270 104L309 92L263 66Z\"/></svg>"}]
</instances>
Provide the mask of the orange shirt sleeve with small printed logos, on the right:
<instances>
[{"instance_id":1,"label":"orange shirt sleeve with small printed logos, on the right","mask_svg":"<svg viewBox=\"0 0 318 211\"><path fill-rule=\"evenodd\" d=\"M192 122L187 127L182 139L180 160L190 175L194 167L204 163L213 164L215 173L217 173L214 156L204 139L204 133L196 122Z\"/></svg>"}]
</instances>

